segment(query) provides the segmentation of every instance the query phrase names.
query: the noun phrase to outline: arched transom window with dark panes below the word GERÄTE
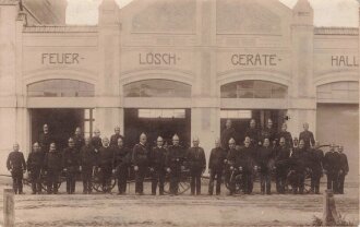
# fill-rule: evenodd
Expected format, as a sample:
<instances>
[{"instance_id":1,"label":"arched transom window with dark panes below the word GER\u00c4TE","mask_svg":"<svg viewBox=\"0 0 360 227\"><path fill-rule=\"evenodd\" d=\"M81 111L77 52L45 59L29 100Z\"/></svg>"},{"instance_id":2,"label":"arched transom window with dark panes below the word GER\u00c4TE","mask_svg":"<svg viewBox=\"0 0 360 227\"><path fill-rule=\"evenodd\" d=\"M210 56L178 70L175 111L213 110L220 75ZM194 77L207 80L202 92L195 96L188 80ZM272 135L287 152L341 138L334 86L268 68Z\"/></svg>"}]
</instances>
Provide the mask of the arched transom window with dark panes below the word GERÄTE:
<instances>
[{"instance_id":1,"label":"arched transom window with dark panes below the word GER\u00c4TE","mask_svg":"<svg viewBox=\"0 0 360 227\"><path fill-rule=\"evenodd\" d=\"M221 98L286 98L288 88L266 81L238 81L221 86Z\"/></svg>"}]
</instances>

